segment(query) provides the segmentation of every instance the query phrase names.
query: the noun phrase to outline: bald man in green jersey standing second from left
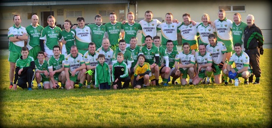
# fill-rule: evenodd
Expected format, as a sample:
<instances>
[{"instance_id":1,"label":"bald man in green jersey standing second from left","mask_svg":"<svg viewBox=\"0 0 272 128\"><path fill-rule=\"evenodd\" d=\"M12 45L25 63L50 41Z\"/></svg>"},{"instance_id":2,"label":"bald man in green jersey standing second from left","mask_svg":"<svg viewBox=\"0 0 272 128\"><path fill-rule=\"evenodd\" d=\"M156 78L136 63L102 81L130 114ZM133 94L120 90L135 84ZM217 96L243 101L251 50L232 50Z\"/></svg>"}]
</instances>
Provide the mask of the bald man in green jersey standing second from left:
<instances>
[{"instance_id":1,"label":"bald man in green jersey standing second from left","mask_svg":"<svg viewBox=\"0 0 272 128\"><path fill-rule=\"evenodd\" d=\"M40 46L40 35L43 29L44 27L39 25L38 15L32 15L31 24L26 27L28 33L26 46L29 49L29 56L32 56L35 60L37 59L38 52L42 50Z\"/></svg>"}]
</instances>

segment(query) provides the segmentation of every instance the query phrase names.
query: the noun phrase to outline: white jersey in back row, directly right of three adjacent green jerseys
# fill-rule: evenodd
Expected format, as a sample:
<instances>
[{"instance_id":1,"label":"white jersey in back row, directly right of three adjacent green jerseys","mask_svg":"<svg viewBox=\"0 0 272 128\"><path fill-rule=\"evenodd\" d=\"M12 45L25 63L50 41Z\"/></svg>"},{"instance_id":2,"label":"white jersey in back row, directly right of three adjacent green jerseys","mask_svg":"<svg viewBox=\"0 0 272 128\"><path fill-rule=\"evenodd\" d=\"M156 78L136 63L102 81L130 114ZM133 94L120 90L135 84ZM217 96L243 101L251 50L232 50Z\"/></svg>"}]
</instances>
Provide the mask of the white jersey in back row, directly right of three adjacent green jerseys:
<instances>
[{"instance_id":1,"label":"white jersey in back row, directly right of three adjacent green jerseys","mask_svg":"<svg viewBox=\"0 0 272 128\"><path fill-rule=\"evenodd\" d=\"M144 37L146 37L147 35L151 37L157 36L157 26L161 24L161 22L157 19L152 19L149 23L141 20L139 24L142 28L142 39L144 39Z\"/></svg>"}]
</instances>

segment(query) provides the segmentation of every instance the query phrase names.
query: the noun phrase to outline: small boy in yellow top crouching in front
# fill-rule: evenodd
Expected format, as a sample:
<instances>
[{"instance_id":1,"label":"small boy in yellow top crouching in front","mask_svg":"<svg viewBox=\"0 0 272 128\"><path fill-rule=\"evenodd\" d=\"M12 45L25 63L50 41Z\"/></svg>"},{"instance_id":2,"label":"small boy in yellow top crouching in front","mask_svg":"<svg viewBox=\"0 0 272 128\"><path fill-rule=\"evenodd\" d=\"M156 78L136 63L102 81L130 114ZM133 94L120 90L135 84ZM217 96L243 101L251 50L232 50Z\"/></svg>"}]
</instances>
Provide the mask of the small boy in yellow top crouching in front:
<instances>
[{"instance_id":1,"label":"small boy in yellow top crouching in front","mask_svg":"<svg viewBox=\"0 0 272 128\"><path fill-rule=\"evenodd\" d=\"M136 69L134 72L134 88L146 87L149 83L149 76L151 76L149 63L144 62L145 56L143 54L138 55L138 65L136 65Z\"/></svg>"}]
</instances>

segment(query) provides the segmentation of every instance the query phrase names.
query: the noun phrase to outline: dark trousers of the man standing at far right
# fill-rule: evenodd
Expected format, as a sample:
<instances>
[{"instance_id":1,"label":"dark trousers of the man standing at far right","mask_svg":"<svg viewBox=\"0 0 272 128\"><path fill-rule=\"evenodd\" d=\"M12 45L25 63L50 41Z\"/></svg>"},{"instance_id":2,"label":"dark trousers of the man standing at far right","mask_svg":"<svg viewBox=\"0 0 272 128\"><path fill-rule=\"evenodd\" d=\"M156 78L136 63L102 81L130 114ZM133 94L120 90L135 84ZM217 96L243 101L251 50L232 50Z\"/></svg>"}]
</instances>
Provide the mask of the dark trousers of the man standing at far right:
<instances>
[{"instance_id":1,"label":"dark trousers of the man standing at far right","mask_svg":"<svg viewBox=\"0 0 272 128\"><path fill-rule=\"evenodd\" d=\"M249 56L249 63L252 66L253 74L255 77L261 77L260 48L246 49L245 52Z\"/></svg>"}]
</instances>

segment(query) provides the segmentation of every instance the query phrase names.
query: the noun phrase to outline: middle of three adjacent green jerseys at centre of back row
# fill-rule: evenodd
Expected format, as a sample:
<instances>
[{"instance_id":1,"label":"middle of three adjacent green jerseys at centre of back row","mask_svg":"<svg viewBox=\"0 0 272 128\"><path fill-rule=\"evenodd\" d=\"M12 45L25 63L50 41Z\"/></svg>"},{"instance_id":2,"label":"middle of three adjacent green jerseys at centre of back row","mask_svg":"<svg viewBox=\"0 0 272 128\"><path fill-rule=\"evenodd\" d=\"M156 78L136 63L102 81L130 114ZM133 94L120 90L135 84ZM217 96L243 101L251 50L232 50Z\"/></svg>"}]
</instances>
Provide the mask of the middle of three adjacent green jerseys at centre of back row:
<instances>
[{"instance_id":1,"label":"middle of three adjacent green jerseys at centre of back row","mask_svg":"<svg viewBox=\"0 0 272 128\"><path fill-rule=\"evenodd\" d=\"M119 41L122 39L121 37L122 23L121 22L116 22L115 24L106 23L105 27L108 33L110 44L111 45L118 44Z\"/></svg>"}]
</instances>

